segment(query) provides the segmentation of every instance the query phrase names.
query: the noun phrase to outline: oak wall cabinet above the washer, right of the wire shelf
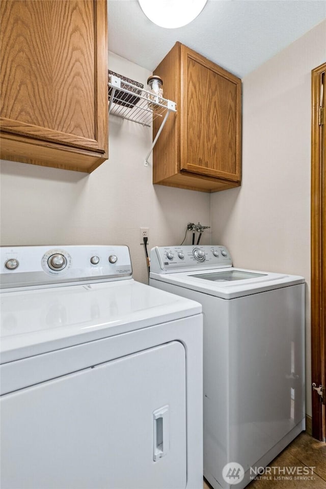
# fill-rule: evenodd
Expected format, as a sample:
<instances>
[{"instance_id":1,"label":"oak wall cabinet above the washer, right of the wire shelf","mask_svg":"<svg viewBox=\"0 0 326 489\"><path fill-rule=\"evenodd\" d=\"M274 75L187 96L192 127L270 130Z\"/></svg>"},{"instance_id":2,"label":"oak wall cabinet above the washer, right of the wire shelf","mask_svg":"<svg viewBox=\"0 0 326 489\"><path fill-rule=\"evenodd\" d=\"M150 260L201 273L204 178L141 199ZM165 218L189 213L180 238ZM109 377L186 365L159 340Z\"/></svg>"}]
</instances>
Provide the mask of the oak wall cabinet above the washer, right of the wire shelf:
<instances>
[{"instance_id":1,"label":"oak wall cabinet above the washer, right of the wire shelf","mask_svg":"<svg viewBox=\"0 0 326 489\"><path fill-rule=\"evenodd\" d=\"M241 80L177 42L154 74L177 103L153 150L153 183L216 192L241 181ZM159 122L154 120L153 133Z\"/></svg>"}]
</instances>

